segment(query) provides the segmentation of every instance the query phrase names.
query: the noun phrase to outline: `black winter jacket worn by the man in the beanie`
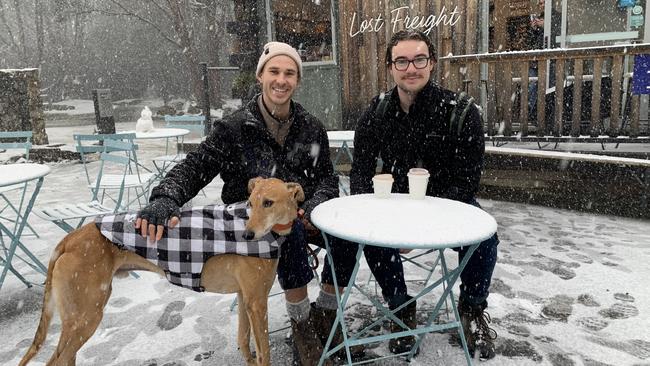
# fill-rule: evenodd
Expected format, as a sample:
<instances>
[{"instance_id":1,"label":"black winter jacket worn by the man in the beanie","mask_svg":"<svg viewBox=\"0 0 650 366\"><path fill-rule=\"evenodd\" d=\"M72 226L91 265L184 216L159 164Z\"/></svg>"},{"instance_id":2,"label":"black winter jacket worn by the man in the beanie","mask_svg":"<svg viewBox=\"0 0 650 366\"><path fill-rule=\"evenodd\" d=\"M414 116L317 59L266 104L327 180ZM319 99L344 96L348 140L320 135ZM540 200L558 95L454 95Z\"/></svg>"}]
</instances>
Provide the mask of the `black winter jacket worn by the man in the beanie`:
<instances>
[{"instance_id":1,"label":"black winter jacket worn by the man in the beanie","mask_svg":"<svg viewBox=\"0 0 650 366\"><path fill-rule=\"evenodd\" d=\"M337 197L338 178L329 156L327 131L300 104L292 102L293 123L281 147L266 128L257 96L244 108L217 121L197 151L176 165L153 189L150 201L166 196L179 206L221 173L224 203L248 199L248 180L275 177L300 183L302 208L309 219L319 203Z\"/></svg>"}]
</instances>

